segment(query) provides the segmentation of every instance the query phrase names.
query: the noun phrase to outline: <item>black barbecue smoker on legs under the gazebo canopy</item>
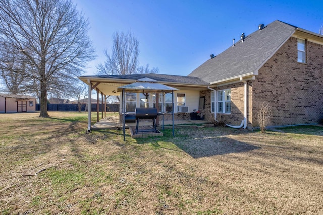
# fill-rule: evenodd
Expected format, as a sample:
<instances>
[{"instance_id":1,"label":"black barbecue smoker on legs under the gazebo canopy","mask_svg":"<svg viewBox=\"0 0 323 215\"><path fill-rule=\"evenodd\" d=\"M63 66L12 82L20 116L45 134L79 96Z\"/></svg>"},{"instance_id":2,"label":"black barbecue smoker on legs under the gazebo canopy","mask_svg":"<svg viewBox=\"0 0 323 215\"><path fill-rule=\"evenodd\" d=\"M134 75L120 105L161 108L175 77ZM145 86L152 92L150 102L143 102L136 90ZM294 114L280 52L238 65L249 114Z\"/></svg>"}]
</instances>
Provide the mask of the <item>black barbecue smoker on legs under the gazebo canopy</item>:
<instances>
[{"instance_id":1,"label":"black barbecue smoker on legs under the gazebo canopy","mask_svg":"<svg viewBox=\"0 0 323 215\"><path fill-rule=\"evenodd\" d=\"M158 112L156 108L136 108L135 114L136 114L136 120L137 120L136 134L138 134L140 119L151 119L153 124L152 129L143 129L143 130L140 130L140 132L154 131L155 133L157 133L156 118L158 116Z\"/></svg>"}]
</instances>

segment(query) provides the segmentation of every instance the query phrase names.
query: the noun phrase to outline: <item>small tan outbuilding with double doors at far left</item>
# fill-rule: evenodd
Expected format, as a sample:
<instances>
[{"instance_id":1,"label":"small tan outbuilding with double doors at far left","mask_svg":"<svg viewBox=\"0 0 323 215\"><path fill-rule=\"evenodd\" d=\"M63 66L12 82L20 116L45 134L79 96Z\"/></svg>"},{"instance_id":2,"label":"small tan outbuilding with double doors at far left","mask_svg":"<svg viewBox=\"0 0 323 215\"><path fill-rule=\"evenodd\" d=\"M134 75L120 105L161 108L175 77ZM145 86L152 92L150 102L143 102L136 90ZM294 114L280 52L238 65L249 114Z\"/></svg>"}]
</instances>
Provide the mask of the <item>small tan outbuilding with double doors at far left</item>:
<instances>
[{"instance_id":1,"label":"small tan outbuilding with double doors at far left","mask_svg":"<svg viewBox=\"0 0 323 215\"><path fill-rule=\"evenodd\" d=\"M36 98L0 93L0 113L35 112Z\"/></svg>"}]
</instances>

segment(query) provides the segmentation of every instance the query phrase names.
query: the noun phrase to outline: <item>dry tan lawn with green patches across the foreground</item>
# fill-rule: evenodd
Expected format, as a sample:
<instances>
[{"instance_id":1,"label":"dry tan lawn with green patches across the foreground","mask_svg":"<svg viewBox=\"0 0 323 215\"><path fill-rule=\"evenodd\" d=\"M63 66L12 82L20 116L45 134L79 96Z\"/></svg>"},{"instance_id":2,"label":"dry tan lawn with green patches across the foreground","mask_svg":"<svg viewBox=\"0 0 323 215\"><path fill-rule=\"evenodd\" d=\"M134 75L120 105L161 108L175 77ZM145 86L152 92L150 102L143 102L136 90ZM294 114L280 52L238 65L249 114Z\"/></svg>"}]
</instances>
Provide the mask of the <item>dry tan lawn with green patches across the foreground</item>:
<instances>
[{"instance_id":1,"label":"dry tan lawn with green patches across the foreground","mask_svg":"<svg viewBox=\"0 0 323 215\"><path fill-rule=\"evenodd\" d=\"M322 127L127 130L124 142L85 134L86 113L49 114L0 115L3 214L323 213Z\"/></svg>"}]
</instances>

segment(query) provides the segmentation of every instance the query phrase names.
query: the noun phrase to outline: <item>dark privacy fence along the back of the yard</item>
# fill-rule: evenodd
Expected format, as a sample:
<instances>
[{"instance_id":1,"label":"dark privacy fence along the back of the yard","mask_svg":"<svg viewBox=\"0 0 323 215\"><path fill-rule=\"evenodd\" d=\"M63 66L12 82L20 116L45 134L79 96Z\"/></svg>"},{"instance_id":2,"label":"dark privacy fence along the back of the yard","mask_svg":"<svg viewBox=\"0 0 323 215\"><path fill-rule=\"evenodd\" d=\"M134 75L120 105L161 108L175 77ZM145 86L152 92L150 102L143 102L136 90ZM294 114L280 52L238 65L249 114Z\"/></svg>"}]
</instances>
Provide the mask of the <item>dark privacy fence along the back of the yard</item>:
<instances>
[{"instance_id":1,"label":"dark privacy fence along the back of the yard","mask_svg":"<svg viewBox=\"0 0 323 215\"><path fill-rule=\"evenodd\" d=\"M85 111L86 104L81 105L81 111ZM104 105L103 105L104 108ZM78 111L78 104L47 104L48 111ZM36 111L40 111L40 104L36 104ZM86 110L87 111L87 110ZM97 111L96 104L91 105L91 111ZM99 111L102 111L101 104ZM104 111L104 109L103 109ZM106 104L107 112L119 112L119 104Z\"/></svg>"}]
</instances>

